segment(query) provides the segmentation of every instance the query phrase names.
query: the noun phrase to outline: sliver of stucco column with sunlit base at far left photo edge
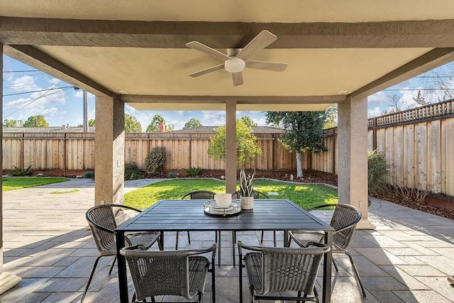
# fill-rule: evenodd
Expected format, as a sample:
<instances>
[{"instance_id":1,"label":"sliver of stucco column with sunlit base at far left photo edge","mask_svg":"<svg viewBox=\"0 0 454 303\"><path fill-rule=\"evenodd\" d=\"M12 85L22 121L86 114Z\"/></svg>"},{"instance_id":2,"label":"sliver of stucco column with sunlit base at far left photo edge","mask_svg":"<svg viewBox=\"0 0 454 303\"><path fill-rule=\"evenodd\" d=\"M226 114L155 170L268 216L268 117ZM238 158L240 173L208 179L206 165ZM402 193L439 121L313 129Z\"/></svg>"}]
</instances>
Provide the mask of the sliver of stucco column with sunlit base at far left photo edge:
<instances>
[{"instance_id":1,"label":"sliver of stucco column with sunlit base at far left photo edge","mask_svg":"<svg viewBox=\"0 0 454 303\"><path fill-rule=\"evenodd\" d=\"M0 44L0 70L3 71L3 45ZM3 73L0 77L0 87L3 87ZM0 89L0 116L3 116L3 89ZM0 123L0 133L3 133L3 123ZM2 140L0 140L0 149L3 150ZM0 154L0 163L3 163L3 153ZM0 178L0 190L3 180ZM0 194L0 294L15 287L22 279L9 272L3 271L3 194Z\"/></svg>"}]
</instances>

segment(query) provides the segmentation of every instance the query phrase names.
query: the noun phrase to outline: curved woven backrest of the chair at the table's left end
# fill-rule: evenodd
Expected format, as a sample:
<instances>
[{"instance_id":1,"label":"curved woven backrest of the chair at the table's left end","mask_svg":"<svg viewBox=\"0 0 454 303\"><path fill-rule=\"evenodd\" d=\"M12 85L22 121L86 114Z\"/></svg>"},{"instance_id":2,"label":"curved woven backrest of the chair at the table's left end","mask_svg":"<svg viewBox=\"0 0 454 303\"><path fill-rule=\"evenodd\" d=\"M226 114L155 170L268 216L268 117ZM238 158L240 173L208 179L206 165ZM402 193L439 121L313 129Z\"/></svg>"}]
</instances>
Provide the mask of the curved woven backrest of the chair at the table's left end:
<instances>
[{"instance_id":1,"label":"curved woven backrest of the chair at the table's left end","mask_svg":"<svg viewBox=\"0 0 454 303\"><path fill-rule=\"evenodd\" d=\"M85 213L94 243L101 254L116 252L115 228L126 221L129 216L123 213L123 205L104 204L96 205ZM120 218L118 222L118 219Z\"/></svg>"}]
</instances>

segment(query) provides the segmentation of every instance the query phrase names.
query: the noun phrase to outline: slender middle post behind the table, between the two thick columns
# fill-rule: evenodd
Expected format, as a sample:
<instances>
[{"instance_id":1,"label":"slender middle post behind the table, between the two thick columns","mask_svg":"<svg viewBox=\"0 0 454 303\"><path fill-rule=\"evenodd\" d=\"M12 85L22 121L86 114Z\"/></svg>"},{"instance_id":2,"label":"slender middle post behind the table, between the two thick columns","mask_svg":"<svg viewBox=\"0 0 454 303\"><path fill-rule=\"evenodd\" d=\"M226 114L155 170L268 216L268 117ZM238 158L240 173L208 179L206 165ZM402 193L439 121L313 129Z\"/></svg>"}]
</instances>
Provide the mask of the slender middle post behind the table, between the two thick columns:
<instances>
[{"instance_id":1,"label":"slender middle post behind the table, between the two thick columns","mask_svg":"<svg viewBox=\"0 0 454 303\"><path fill-rule=\"evenodd\" d=\"M226 192L236 192L236 101L226 102Z\"/></svg>"}]
</instances>

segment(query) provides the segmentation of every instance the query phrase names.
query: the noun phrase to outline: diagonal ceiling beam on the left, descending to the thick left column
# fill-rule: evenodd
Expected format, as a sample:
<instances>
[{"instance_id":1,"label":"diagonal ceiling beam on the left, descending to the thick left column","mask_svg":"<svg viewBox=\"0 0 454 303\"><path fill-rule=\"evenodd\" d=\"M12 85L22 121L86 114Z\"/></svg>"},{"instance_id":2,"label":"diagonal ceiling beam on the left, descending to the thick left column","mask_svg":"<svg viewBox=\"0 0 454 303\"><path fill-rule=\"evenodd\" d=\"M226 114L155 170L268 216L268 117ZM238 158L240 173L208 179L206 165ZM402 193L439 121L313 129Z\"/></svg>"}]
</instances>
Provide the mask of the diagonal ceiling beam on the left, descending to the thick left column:
<instances>
[{"instance_id":1,"label":"diagonal ceiling beam on the left, descending to the thick left column","mask_svg":"<svg viewBox=\"0 0 454 303\"><path fill-rule=\"evenodd\" d=\"M75 87L84 89L91 94L106 95L109 97L113 95L109 89L106 89L101 84L94 82L92 79L89 79L31 45L6 45L4 54L23 62L26 65L35 67L37 70L41 70L53 77L70 83Z\"/></svg>"}]
</instances>

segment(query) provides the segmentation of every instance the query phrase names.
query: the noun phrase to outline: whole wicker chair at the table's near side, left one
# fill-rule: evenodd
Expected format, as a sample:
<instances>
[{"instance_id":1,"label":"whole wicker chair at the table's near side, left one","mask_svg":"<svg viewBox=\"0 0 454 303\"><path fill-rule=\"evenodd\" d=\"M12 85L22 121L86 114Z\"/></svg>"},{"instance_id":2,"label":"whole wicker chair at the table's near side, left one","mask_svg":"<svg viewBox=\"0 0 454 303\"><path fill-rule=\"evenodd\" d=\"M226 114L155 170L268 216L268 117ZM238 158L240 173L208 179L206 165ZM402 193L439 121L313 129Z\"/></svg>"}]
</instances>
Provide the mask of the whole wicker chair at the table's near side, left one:
<instances>
[{"instance_id":1,"label":"whole wicker chair at the table's near side, left one","mask_svg":"<svg viewBox=\"0 0 454 303\"><path fill-rule=\"evenodd\" d=\"M143 251L138 246L122 248L128 262L135 293L132 302L155 296L175 295L202 302L206 272L211 272L212 302L216 301L214 256L216 244L198 250ZM211 261L202 253L211 252ZM135 301L137 300L137 301ZM143 301L146 302L146 301ZM172 301L173 302L173 301Z\"/></svg>"}]
</instances>

